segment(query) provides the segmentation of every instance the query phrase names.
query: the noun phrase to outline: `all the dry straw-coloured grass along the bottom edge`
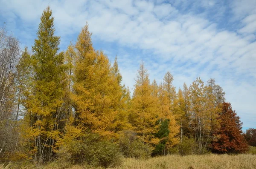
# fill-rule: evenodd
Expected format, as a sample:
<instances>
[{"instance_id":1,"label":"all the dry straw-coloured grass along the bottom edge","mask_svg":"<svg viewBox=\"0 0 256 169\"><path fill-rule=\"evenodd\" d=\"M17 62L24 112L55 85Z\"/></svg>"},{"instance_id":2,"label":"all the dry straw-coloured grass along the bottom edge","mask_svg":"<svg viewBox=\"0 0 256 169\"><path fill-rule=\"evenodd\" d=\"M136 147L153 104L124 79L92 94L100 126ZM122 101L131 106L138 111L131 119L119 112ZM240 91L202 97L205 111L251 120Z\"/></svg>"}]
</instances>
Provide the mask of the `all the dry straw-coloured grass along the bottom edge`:
<instances>
[{"instance_id":1,"label":"all the dry straw-coloured grass along the bottom edge","mask_svg":"<svg viewBox=\"0 0 256 169\"><path fill-rule=\"evenodd\" d=\"M89 169L84 165L71 165L65 162L52 162L36 166L23 163L21 166L9 163L0 169ZM98 168L100 169L100 168ZM256 155L168 155L147 160L124 159L121 166L114 169L256 169Z\"/></svg>"}]
</instances>

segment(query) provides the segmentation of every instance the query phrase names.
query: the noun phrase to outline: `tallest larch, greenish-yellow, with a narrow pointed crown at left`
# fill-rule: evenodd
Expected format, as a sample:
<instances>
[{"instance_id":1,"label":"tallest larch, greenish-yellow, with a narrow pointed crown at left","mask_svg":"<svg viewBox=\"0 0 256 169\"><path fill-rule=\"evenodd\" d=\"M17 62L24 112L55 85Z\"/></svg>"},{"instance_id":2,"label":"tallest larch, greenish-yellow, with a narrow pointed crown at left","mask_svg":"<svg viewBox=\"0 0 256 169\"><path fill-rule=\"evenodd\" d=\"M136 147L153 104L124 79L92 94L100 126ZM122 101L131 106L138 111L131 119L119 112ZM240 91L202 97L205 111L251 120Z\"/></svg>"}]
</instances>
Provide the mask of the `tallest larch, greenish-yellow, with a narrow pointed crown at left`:
<instances>
[{"instance_id":1,"label":"tallest larch, greenish-yellow, with a narrow pointed crown at left","mask_svg":"<svg viewBox=\"0 0 256 169\"><path fill-rule=\"evenodd\" d=\"M32 46L31 80L23 93L24 120L30 153L35 160L51 160L60 136L59 122L65 88L64 54L58 52L60 37L55 36L54 17L47 7L41 16L37 39Z\"/></svg>"}]
</instances>

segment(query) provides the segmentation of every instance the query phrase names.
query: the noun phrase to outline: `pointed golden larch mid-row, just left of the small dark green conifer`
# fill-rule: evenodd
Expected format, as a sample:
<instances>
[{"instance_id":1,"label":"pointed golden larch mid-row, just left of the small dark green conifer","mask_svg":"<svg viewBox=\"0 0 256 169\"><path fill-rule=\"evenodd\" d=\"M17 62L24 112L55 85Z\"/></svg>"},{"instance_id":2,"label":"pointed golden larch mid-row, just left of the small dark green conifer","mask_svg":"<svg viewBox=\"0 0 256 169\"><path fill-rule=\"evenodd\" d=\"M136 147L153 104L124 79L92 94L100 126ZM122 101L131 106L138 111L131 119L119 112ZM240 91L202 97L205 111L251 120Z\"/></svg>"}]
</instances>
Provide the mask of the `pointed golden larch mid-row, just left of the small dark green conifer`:
<instances>
[{"instance_id":1,"label":"pointed golden larch mid-row, just left of the small dark green conifer","mask_svg":"<svg viewBox=\"0 0 256 169\"><path fill-rule=\"evenodd\" d=\"M160 141L155 137L159 129L157 124L159 115L156 112L157 98L152 95L152 85L143 62L140 64L134 87L129 120L143 143L157 145Z\"/></svg>"}]
</instances>

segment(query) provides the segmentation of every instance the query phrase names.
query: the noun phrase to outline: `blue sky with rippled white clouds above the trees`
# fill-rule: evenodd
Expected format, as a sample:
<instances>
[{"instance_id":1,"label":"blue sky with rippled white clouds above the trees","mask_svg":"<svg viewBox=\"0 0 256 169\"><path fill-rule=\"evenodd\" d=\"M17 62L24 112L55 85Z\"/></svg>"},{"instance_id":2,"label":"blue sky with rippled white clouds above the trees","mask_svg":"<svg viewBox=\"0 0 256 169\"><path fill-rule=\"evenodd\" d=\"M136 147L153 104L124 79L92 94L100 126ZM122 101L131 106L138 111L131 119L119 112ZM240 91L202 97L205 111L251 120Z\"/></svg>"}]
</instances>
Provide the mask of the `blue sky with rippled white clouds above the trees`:
<instances>
[{"instance_id":1,"label":"blue sky with rippled white clouds above the trees","mask_svg":"<svg viewBox=\"0 0 256 169\"><path fill-rule=\"evenodd\" d=\"M151 81L170 71L176 89L214 78L243 130L256 128L256 0L0 0L0 26L31 48L48 5L61 50L87 21L131 90L141 60Z\"/></svg>"}]
</instances>

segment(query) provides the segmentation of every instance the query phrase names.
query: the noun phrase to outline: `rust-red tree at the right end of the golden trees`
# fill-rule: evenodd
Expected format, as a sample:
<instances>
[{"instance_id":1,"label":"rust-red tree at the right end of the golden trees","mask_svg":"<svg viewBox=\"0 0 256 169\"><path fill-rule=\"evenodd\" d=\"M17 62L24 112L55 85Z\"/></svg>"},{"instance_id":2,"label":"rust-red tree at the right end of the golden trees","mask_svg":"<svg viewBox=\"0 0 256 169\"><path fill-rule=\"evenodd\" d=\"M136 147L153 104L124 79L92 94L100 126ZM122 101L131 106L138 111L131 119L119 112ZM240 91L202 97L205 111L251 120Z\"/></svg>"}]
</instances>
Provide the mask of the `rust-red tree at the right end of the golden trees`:
<instances>
[{"instance_id":1,"label":"rust-red tree at the right end of the golden trees","mask_svg":"<svg viewBox=\"0 0 256 169\"><path fill-rule=\"evenodd\" d=\"M247 151L248 145L242 135L240 117L232 110L230 103L223 103L219 121L221 126L215 133L218 139L212 141L212 152L222 154Z\"/></svg>"}]
</instances>

